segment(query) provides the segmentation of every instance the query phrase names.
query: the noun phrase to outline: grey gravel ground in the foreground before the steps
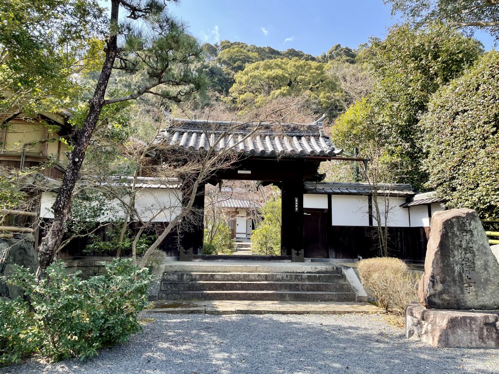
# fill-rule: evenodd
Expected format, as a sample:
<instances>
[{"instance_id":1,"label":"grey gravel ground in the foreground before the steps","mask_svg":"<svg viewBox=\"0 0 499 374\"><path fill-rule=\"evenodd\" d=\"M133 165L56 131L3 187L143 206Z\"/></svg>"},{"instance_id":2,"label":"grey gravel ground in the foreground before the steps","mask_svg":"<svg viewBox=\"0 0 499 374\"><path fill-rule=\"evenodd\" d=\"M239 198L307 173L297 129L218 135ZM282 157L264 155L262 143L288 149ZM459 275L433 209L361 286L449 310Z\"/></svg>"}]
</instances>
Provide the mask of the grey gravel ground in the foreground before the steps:
<instances>
[{"instance_id":1,"label":"grey gravel ground in the foreground before the steps","mask_svg":"<svg viewBox=\"0 0 499 374\"><path fill-rule=\"evenodd\" d=\"M143 333L90 360L33 360L1 373L499 373L499 350L437 350L376 315L153 317Z\"/></svg>"}]
</instances>

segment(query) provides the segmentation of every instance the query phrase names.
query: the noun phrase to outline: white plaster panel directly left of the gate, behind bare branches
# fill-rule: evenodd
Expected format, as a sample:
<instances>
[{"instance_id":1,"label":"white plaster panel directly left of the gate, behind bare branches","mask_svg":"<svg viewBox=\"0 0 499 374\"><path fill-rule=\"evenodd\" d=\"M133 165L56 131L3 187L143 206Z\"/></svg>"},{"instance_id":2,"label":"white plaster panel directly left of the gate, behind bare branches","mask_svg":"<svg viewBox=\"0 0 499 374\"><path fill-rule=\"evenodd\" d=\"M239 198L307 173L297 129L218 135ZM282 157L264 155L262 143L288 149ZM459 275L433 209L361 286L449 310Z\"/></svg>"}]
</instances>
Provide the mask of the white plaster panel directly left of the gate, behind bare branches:
<instances>
[{"instance_id":1,"label":"white plaster panel directly left of the gate, behind bare branches","mask_svg":"<svg viewBox=\"0 0 499 374\"><path fill-rule=\"evenodd\" d=\"M135 207L144 221L171 222L181 211L181 193L170 188L141 188Z\"/></svg>"}]
</instances>

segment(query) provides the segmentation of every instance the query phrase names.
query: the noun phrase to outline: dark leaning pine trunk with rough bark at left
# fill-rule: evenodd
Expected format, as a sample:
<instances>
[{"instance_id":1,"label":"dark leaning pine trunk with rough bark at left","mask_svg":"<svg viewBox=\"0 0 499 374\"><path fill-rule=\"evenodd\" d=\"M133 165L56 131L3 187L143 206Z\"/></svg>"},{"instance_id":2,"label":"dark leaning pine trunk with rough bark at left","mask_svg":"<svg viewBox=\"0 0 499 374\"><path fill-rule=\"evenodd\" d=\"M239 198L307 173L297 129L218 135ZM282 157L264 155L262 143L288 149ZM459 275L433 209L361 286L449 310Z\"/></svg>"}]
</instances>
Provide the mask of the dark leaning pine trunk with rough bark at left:
<instances>
[{"instance_id":1,"label":"dark leaning pine trunk with rough bark at left","mask_svg":"<svg viewBox=\"0 0 499 374\"><path fill-rule=\"evenodd\" d=\"M111 0L110 30L114 29L118 22L119 4L119 0ZM59 187L59 192L55 198L54 219L52 225L38 248L38 279L44 277L46 268L54 262L56 250L62 241L62 237L66 232L67 223L71 218L71 197L73 195L74 186L78 179L92 133L97 125L97 121L99 120L102 107L104 106L104 95L106 93L109 77L111 76L117 50L117 35L113 33L109 35L107 40L106 58L104 60L99 81L95 87L94 95L90 100L88 114L83 127L80 131L78 131L76 146L73 152L71 152L62 184Z\"/></svg>"}]
</instances>

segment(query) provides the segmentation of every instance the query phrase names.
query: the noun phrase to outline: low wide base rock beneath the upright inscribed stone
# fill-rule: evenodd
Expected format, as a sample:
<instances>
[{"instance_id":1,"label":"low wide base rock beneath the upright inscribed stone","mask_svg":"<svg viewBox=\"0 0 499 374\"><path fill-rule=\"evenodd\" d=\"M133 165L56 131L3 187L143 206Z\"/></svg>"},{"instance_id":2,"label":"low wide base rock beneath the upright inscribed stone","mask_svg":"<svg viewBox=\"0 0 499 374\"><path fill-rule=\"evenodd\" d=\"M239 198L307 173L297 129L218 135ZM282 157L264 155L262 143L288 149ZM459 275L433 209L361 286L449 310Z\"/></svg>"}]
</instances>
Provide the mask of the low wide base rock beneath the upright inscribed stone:
<instances>
[{"instance_id":1,"label":"low wide base rock beneath the upright inscribed stone","mask_svg":"<svg viewBox=\"0 0 499 374\"><path fill-rule=\"evenodd\" d=\"M437 310L412 303L405 333L439 348L499 348L499 311Z\"/></svg>"}]
</instances>

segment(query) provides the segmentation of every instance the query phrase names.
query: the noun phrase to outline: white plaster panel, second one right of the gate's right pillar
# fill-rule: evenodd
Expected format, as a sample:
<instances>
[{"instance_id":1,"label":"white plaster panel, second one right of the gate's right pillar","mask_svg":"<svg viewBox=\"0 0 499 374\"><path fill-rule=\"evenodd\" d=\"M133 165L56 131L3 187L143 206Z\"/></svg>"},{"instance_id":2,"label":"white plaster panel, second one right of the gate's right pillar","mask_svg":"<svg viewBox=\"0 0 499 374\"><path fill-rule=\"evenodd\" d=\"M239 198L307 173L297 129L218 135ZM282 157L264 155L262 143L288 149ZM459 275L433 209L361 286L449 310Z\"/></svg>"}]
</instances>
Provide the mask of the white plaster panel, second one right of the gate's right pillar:
<instances>
[{"instance_id":1,"label":"white plaster panel, second one right of the gate's right pillar","mask_svg":"<svg viewBox=\"0 0 499 374\"><path fill-rule=\"evenodd\" d=\"M367 196L331 195L333 226L369 226Z\"/></svg>"}]
</instances>

